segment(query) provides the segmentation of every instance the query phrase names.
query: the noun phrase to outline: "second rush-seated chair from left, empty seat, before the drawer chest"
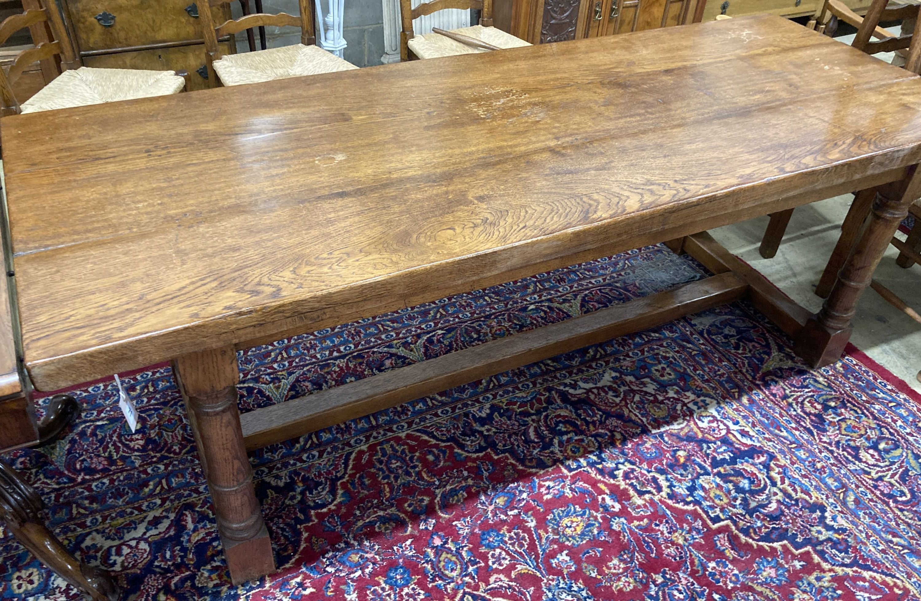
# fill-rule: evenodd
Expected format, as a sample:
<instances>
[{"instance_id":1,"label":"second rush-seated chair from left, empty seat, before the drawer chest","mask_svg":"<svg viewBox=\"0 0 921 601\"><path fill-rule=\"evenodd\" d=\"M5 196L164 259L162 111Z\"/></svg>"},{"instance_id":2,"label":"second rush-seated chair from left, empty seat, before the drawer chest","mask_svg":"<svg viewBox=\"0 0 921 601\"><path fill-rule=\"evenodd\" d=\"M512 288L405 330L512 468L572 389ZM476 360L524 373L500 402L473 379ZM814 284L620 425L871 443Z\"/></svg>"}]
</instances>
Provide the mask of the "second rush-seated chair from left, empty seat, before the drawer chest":
<instances>
[{"instance_id":1,"label":"second rush-seated chair from left, empty seat, before the drawer chest","mask_svg":"<svg viewBox=\"0 0 921 601\"><path fill-rule=\"evenodd\" d=\"M210 6L218 6L231 0L205 1ZM298 0L297 4L300 7L300 15L297 17L287 13L277 15L253 13L238 19L229 19L220 25L215 25L211 11L199 11L208 70L215 73L224 86L239 86L287 77L303 77L357 69L356 65L316 45L313 5L309 0ZM218 38L266 25L300 28L300 43L257 50L252 53L221 56L220 46L217 44Z\"/></svg>"}]
</instances>

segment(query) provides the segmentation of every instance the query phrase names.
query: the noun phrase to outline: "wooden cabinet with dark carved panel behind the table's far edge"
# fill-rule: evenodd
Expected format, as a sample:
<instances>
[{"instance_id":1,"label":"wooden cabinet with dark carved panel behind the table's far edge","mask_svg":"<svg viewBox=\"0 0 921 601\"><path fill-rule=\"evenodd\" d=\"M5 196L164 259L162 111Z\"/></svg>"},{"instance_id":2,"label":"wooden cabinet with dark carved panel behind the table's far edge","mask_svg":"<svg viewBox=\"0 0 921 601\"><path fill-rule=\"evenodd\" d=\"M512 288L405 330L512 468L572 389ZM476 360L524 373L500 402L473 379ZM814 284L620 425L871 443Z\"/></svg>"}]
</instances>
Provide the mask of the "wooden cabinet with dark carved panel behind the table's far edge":
<instances>
[{"instance_id":1,"label":"wooden cabinet with dark carved panel behind the table's far edge","mask_svg":"<svg viewBox=\"0 0 921 601\"><path fill-rule=\"evenodd\" d=\"M577 40L700 20L706 0L493 0L495 26L531 43Z\"/></svg>"}]
</instances>

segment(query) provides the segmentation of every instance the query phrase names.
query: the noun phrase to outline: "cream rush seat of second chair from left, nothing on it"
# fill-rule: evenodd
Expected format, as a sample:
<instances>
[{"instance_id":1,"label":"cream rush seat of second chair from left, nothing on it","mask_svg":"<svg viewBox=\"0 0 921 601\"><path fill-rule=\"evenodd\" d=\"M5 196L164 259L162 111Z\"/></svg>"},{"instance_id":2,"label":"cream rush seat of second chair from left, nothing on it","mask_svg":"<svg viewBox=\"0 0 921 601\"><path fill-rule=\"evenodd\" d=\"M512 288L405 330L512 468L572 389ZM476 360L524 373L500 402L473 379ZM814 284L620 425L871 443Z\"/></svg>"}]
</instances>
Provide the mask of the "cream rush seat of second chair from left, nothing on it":
<instances>
[{"instance_id":1,"label":"cream rush seat of second chair from left, nothing on it","mask_svg":"<svg viewBox=\"0 0 921 601\"><path fill-rule=\"evenodd\" d=\"M255 84L287 77L302 77L357 69L318 46L295 44L254 53L227 54L214 62L225 86Z\"/></svg>"}]
</instances>

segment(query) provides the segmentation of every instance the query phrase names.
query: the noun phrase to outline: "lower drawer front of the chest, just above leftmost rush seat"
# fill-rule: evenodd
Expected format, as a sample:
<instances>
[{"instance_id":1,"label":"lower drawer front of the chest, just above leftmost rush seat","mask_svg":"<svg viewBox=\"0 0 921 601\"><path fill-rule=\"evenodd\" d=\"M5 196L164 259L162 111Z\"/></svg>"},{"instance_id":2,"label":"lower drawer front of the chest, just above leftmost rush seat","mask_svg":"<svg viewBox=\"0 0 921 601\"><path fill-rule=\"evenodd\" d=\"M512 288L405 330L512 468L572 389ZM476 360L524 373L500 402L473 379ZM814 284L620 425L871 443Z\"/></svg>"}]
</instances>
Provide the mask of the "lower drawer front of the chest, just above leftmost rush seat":
<instances>
[{"instance_id":1,"label":"lower drawer front of the chest, just above leftmost rush seat","mask_svg":"<svg viewBox=\"0 0 921 601\"><path fill-rule=\"evenodd\" d=\"M221 53L232 53L229 42L221 44ZM106 69L148 69L151 71L181 71L189 72L189 89L214 88L215 77L208 75L202 77L198 72L206 71L204 67L204 45L178 46L175 48L160 48L157 50L139 50L134 53L102 54L87 56L83 64Z\"/></svg>"}]
</instances>

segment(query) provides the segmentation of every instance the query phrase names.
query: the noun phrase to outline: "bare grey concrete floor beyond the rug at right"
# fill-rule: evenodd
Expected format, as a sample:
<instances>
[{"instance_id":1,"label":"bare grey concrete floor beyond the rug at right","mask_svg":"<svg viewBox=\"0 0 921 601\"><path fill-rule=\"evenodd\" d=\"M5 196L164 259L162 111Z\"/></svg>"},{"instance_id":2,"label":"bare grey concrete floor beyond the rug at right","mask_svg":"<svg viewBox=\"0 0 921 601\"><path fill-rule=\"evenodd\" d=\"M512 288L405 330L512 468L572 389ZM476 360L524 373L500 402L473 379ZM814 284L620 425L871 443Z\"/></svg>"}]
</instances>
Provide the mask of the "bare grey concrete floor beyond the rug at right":
<instances>
[{"instance_id":1,"label":"bare grey concrete floor beyond the rug at right","mask_svg":"<svg viewBox=\"0 0 921 601\"><path fill-rule=\"evenodd\" d=\"M818 311L822 299L813 290L838 241L841 222L852 194L836 196L800 206L793 212L787 235L773 259L763 259L758 246L768 218L755 218L712 230L714 238L731 253L747 261L782 289L794 301ZM897 234L904 240L904 234ZM921 312L921 265L903 269L895 264L898 251L890 245L874 276L898 294L906 304ZM921 392L917 373L921 370L921 324L901 312L872 289L857 305L854 334L857 348L867 353L896 376Z\"/></svg>"}]
</instances>

